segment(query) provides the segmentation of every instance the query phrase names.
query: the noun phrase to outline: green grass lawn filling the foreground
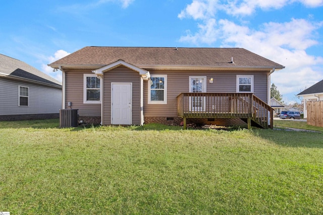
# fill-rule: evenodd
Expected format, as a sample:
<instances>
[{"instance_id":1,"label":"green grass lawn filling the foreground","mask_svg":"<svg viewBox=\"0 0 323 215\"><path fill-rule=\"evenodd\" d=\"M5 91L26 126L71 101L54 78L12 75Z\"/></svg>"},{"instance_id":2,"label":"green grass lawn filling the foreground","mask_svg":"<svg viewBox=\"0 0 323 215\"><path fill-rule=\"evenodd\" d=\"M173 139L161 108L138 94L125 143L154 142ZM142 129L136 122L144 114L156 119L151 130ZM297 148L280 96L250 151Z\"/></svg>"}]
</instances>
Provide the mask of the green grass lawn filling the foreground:
<instances>
[{"instance_id":1,"label":"green grass lawn filling the foreground","mask_svg":"<svg viewBox=\"0 0 323 215\"><path fill-rule=\"evenodd\" d=\"M321 214L323 134L0 122L0 211Z\"/></svg>"}]
</instances>

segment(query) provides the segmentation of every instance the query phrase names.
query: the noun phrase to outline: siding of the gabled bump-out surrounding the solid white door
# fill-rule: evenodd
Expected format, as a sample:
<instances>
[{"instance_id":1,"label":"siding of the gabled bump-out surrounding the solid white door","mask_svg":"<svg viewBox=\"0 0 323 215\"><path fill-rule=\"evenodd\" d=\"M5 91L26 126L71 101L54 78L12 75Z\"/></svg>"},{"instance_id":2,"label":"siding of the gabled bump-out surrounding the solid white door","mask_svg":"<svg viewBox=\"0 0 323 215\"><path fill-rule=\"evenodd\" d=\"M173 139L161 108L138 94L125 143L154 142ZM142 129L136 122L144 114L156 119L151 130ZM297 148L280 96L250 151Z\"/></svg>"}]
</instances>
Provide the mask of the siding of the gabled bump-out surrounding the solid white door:
<instances>
[{"instance_id":1,"label":"siding of the gabled bump-out surrounding the solid white door","mask_svg":"<svg viewBox=\"0 0 323 215\"><path fill-rule=\"evenodd\" d=\"M124 66L106 71L103 75L103 121L111 124L111 83L132 83L132 124L140 124L140 75Z\"/></svg>"}]
</instances>

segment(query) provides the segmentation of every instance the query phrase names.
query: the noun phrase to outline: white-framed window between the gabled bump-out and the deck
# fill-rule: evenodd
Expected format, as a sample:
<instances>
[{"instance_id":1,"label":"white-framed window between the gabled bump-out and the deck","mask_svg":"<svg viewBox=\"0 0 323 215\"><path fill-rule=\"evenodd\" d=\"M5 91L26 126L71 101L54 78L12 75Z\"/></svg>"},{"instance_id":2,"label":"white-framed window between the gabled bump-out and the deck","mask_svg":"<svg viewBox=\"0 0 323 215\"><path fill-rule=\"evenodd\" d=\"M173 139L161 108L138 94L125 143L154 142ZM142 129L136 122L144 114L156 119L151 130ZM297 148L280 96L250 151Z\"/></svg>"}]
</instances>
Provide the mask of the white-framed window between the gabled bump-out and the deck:
<instances>
[{"instance_id":1,"label":"white-framed window between the gabled bump-out and the deck","mask_svg":"<svg viewBox=\"0 0 323 215\"><path fill-rule=\"evenodd\" d=\"M151 75L148 104L167 104L167 75Z\"/></svg>"}]
</instances>

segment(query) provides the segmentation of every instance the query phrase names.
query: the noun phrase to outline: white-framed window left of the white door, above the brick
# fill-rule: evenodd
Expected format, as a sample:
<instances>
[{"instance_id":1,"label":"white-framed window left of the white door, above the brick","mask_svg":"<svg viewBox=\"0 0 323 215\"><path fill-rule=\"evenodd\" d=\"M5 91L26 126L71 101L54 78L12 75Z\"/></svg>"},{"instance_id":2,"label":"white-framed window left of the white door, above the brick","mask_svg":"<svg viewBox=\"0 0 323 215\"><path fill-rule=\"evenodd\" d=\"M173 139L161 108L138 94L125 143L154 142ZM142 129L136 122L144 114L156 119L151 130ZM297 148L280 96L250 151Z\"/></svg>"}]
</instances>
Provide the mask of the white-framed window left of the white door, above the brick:
<instances>
[{"instance_id":1,"label":"white-framed window left of the white door, above the brick","mask_svg":"<svg viewBox=\"0 0 323 215\"><path fill-rule=\"evenodd\" d=\"M100 104L101 103L101 79L95 74L84 74L83 84L83 103Z\"/></svg>"}]
</instances>

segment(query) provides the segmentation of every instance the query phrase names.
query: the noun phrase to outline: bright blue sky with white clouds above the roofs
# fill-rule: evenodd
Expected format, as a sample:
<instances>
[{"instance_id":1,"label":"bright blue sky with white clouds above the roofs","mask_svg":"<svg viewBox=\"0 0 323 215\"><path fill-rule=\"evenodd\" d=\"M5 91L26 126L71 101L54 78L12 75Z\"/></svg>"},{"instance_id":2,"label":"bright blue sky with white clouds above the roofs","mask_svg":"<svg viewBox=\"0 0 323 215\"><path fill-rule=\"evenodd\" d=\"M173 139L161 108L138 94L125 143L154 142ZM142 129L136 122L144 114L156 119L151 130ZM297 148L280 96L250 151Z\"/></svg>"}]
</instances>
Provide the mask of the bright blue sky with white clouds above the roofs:
<instances>
[{"instance_id":1,"label":"bright blue sky with white clouds above the roofs","mask_svg":"<svg viewBox=\"0 0 323 215\"><path fill-rule=\"evenodd\" d=\"M295 103L323 79L323 0L2 0L1 54L62 81L47 64L85 46L245 48Z\"/></svg>"}]
</instances>

